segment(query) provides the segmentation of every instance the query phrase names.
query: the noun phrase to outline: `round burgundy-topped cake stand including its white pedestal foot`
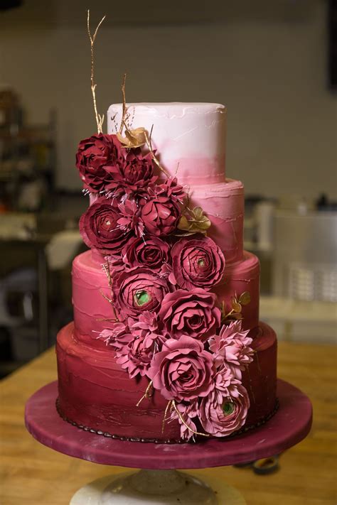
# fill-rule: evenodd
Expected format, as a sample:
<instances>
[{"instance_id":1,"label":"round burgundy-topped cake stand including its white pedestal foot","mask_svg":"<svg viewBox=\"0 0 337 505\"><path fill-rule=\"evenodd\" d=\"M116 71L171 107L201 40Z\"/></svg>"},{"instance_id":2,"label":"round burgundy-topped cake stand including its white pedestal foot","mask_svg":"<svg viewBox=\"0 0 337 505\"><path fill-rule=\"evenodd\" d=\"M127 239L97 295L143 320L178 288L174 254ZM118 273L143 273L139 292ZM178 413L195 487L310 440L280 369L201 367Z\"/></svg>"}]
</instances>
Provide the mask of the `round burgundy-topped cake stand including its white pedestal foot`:
<instances>
[{"instance_id":1,"label":"round burgundy-topped cake stand including its white pedestal foot","mask_svg":"<svg viewBox=\"0 0 337 505\"><path fill-rule=\"evenodd\" d=\"M102 465L141 468L137 473L97 479L80 489L70 505L243 505L245 500L223 482L208 484L176 469L236 465L277 455L309 433L309 398L278 380L279 410L264 425L233 438L187 444L128 442L80 430L58 416L57 382L39 389L26 403L26 428L36 440L66 455Z\"/></svg>"}]
</instances>

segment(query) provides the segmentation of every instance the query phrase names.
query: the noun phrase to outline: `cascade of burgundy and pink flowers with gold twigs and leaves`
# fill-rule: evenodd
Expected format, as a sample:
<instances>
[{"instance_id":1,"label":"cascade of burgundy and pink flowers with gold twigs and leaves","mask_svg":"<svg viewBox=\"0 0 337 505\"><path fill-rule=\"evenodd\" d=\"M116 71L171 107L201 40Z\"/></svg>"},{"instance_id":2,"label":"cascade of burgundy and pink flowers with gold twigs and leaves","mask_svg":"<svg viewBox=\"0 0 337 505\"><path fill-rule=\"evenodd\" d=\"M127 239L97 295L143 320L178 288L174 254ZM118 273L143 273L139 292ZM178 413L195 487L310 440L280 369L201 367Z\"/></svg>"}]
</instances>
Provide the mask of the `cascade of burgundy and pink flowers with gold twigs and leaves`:
<instances>
[{"instance_id":1,"label":"cascade of burgundy and pink flowers with gold twigs and leaves","mask_svg":"<svg viewBox=\"0 0 337 505\"><path fill-rule=\"evenodd\" d=\"M93 78L92 86L95 98ZM119 132L103 134L99 117L98 134L81 141L76 156L85 190L97 195L80 232L102 254L111 287L114 317L98 338L131 379L149 379L139 403L155 391L166 398L163 430L176 419L183 440L230 435L250 406L242 370L252 362L252 339L240 320L249 293L235 295L225 314L213 293L225 257L206 234L210 221L200 207L188 208L186 190L156 158L151 133L127 126L124 86L125 79Z\"/></svg>"}]
</instances>

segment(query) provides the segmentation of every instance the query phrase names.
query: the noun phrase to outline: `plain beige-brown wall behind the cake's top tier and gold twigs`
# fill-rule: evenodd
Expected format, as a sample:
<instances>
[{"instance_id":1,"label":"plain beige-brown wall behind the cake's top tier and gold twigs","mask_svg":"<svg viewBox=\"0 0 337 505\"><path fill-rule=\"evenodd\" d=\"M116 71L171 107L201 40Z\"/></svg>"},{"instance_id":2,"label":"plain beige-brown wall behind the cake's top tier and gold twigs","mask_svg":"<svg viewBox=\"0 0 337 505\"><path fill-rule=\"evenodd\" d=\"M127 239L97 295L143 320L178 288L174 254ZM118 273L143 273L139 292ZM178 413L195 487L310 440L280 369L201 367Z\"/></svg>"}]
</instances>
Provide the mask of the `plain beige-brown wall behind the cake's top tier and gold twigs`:
<instances>
[{"instance_id":1,"label":"plain beige-brown wall behind the cake's top tier and gold twigs","mask_svg":"<svg viewBox=\"0 0 337 505\"><path fill-rule=\"evenodd\" d=\"M107 26L96 47L99 109L120 101L124 71L129 102L223 102L228 175L246 192L336 197L325 25L326 4L317 1L302 21ZM17 89L31 121L57 109L58 185L80 188L75 149L95 131L85 26L3 27L0 82Z\"/></svg>"}]
</instances>

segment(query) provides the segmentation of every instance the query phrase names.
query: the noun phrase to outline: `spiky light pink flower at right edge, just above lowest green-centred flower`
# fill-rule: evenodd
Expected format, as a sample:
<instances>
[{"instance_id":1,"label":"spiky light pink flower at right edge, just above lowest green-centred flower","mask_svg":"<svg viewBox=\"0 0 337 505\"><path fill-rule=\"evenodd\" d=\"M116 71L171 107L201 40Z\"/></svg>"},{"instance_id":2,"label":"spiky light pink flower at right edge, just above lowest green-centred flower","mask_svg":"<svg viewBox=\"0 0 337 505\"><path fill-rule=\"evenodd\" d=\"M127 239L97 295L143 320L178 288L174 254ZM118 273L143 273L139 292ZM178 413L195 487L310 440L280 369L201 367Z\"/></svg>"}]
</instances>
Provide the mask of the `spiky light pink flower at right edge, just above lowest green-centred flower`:
<instances>
[{"instance_id":1,"label":"spiky light pink flower at right edge, just above lowest green-centred flower","mask_svg":"<svg viewBox=\"0 0 337 505\"><path fill-rule=\"evenodd\" d=\"M232 321L223 327L219 335L210 338L210 351L215 354L215 365L221 366L223 362L230 363L238 370L245 369L253 359L254 351L250 347L252 338L248 337L249 330L242 330L241 321ZM240 372L238 377L241 378Z\"/></svg>"}]
</instances>

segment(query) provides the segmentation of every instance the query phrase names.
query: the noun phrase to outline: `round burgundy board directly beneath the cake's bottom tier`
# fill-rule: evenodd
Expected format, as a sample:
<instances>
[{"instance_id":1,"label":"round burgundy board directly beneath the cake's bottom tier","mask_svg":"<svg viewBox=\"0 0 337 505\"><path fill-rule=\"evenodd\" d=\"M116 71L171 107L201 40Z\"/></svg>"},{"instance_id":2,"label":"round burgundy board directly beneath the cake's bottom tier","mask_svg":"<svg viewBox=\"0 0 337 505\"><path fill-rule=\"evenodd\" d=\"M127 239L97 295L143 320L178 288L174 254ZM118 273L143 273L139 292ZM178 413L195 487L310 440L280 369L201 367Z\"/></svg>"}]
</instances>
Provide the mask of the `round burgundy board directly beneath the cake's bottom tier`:
<instances>
[{"instance_id":1,"label":"round burgundy board directly beneath the cake's bottom tier","mask_svg":"<svg viewBox=\"0 0 337 505\"><path fill-rule=\"evenodd\" d=\"M233 438L198 443L128 442L105 438L65 422L55 408L57 396L55 381L39 389L26 403L26 428L36 440L82 460L131 468L192 469L259 460L277 455L303 440L312 420L309 398L279 379L279 409L259 428Z\"/></svg>"}]
</instances>

